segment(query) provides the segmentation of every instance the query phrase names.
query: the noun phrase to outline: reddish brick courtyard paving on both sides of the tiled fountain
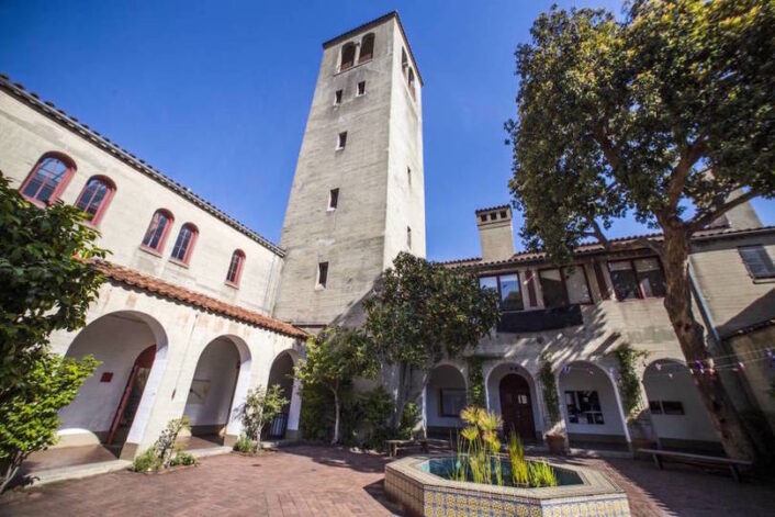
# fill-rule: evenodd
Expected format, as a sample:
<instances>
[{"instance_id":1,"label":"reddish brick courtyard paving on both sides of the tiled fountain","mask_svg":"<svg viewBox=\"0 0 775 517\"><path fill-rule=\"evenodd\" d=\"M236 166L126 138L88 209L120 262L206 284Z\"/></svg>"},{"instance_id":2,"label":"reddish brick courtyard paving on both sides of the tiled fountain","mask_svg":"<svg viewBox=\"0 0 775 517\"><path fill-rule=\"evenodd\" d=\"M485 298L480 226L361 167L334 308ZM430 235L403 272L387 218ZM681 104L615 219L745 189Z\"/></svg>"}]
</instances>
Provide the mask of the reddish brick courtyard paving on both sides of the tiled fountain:
<instances>
[{"instance_id":1,"label":"reddish brick courtyard paving on both sides of the tiled fountain","mask_svg":"<svg viewBox=\"0 0 775 517\"><path fill-rule=\"evenodd\" d=\"M0 516L389 516L382 487L390 460L345 449L295 446L250 458L224 454L158 475L114 472L12 491ZM571 458L625 488L636 516L773 515L774 482L734 483L725 474L649 461Z\"/></svg>"}]
</instances>

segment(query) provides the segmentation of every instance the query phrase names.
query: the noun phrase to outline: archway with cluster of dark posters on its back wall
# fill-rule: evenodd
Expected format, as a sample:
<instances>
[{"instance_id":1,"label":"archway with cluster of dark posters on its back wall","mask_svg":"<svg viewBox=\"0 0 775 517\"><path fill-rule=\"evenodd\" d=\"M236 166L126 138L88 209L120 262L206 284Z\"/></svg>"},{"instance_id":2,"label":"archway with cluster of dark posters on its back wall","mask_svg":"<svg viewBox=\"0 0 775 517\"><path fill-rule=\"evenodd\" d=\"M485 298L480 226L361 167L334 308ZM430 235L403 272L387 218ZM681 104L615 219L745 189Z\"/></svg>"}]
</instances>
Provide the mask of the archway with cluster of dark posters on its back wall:
<instances>
[{"instance_id":1,"label":"archway with cluster of dark posters on its back wall","mask_svg":"<svg viewBox=\"0 0 775 517\"><path fill-rule=\"evenodd\" d=\"M629 440L614 380L586 361L565 364L558 376L571 447L627 449Z\"/></svg>"}]
</instances>

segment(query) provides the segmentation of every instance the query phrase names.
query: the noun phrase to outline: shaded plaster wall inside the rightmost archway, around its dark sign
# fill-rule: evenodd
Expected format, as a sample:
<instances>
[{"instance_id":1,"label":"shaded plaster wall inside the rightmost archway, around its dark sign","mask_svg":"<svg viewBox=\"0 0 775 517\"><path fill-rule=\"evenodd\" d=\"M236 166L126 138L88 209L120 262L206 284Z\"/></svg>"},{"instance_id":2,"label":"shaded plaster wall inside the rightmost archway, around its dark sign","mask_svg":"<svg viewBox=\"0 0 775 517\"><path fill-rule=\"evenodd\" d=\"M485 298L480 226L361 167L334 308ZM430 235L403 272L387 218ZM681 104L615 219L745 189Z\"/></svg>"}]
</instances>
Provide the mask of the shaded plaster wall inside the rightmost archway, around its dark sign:
<instances>
[{"instance_id":1,"label":"shaded plaster wall inside the rightmost archway, around its dark sign","mask_svg":"<svg viewBox=\"0 0 775 517\"><path fill-rule=\"evenodd\" d=\"M660 438L718 441L708 411L699 398L697 389L686 367L676 362L661 362L662 371L654 366L645 370L643 384L651 401L679 401L683 415L651 414L654 430ZM669 375L672 374L672 378Z\"/></svg>"}]
</instances>

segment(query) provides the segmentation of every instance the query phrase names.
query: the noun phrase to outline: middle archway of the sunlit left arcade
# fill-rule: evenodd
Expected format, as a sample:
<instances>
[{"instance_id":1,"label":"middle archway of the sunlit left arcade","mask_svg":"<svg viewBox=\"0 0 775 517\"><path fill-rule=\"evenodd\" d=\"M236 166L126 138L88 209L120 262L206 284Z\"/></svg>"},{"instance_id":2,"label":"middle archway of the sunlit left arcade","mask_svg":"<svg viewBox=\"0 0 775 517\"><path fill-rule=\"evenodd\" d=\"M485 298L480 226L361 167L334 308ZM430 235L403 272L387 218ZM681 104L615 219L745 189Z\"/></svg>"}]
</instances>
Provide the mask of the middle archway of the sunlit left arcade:
<instances>
[{"instance_id":1,"label":"middle archway of the sunlit left arcade","mask_svg":"<svg viewBox=\"0 0 775 517\"><path fill-rule=\"evenodd\" d=\"M227 427L235 419L235 402L242 394L239 381L245 384L249 376L249 359L247 346L231 336L220 336L204 347L183 409L191 420L192 438L187 448L224 445Z\"/></svg>"}]
</instances>

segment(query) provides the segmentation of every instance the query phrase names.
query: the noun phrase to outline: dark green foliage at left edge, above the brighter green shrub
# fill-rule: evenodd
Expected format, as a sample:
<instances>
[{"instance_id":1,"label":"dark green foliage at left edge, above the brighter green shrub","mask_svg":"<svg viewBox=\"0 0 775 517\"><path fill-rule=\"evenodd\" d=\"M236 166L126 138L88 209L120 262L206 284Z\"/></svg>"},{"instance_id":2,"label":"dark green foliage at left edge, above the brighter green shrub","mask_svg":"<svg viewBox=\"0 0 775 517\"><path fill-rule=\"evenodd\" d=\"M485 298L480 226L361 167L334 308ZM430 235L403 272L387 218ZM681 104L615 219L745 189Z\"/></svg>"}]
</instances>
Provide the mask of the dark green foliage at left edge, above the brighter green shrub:
<instances>
[{"instance_id":1,"label":"dark green foliage at left edge, above the brighter green shrub","mask_svg":"<svg viewBox=\"0 0 775 517\"><path fill-rule=\"evenodd\" d=\"M0 402L30 380L54 330L77 330L102 277L85 259L103 258L83 212L25 201L0 172Z\"/></svg>"}]
</instances>

